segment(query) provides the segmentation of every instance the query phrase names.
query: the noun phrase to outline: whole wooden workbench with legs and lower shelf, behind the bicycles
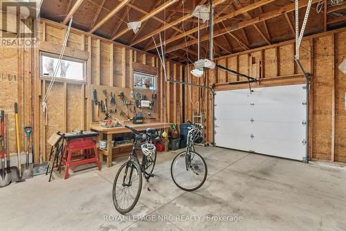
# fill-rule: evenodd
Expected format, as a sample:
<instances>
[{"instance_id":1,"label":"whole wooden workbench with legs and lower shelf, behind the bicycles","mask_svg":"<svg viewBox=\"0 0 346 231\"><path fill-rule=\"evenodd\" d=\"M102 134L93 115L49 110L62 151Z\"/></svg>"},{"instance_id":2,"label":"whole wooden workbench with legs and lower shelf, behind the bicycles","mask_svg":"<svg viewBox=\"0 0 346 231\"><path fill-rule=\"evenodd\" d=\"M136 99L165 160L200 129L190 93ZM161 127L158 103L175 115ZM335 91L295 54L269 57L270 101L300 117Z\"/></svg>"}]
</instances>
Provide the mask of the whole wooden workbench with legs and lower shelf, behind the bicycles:
<instances>
[{"instance_id":1,"label":"whole wooden workbench with legs and lower shelf, behind the bicycles","mask_svg":"<svg viewBox=\"0 0 346 231\"><path fill-rule=\"evenodd\" d=\"M130 127L133 127L134 129L138 131L145 131L145 129L150 128L150 129L167 129L170 127L170 123L167 122L150 122L150 123L145 123L145 124L127 124ZM118 133L129 133L131 132L129 129L125 127L100 127L99 122L92 122L90 124L90 129L91 131L96 131L100 133L99 138L102 139L103 134L107 134L107 150L105 149L99 149L100 153L100 160L103 159L103 155L107 156L107 167L111 167L111 160L112 160L112 149L116 148L121 148L121 147L129 147L132 146L133 144L124 144L124 145L116 145L115 147L112 147L111 141L113 139L113 134L118 134ZM111 148L109 148L111 147Z\"/></svg>"}]
</instances>

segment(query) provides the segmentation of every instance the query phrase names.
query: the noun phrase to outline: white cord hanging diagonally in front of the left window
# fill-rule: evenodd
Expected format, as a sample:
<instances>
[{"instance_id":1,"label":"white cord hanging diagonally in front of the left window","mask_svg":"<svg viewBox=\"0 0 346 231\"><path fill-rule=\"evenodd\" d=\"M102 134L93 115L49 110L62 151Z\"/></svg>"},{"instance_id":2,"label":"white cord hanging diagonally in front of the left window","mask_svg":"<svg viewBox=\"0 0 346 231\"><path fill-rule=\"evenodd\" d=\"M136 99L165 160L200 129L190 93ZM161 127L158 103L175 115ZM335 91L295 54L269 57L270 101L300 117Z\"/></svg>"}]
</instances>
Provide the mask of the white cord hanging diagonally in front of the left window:
<instances>
[{"instance_id":1,"label":"white cord hanging diagonally in front of the left window","mask_svg":"<svg viewBox=\"0 0 346 231\"><path fill-rule=\"evenodd\" d=\"M51 93L51 90L53 88L53 84L55 82L55 78L57 77L57 71L59 70L60 64L62 62L62 57L64 57L64 52L67 46L67 40L69 39L70 31L71 31L71 26L72 26L72 21L73 17L71 17L70 22L69 22L69 27L66 30L65 38L64 38L64 43L62 45L62 50L60 51L59 59L57 60L57 66L55 67L55 70L53 72L53 76L51 79L51 82L49 83L48 89L46 91L46 95L44 95L44 99L42 100L42 111L44 113L44 124L47 125L47 117L48 117L48 106L47 106L47 100L49 93Z\"/></svg>"}]
</instances>

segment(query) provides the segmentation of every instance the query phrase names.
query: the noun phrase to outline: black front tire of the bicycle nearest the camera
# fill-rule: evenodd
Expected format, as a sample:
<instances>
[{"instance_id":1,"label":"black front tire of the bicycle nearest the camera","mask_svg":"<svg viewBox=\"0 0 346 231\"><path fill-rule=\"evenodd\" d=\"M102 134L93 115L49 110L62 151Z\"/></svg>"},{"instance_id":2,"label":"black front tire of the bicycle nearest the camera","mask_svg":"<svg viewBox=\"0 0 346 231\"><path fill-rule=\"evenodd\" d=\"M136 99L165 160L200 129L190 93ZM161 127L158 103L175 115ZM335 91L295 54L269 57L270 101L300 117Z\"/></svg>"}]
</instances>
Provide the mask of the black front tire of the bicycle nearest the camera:
<instances>
[{"instance_id":1,"label":"black front tire of the bicycle nearest the camera","mask_svg":"<svg viewBox=\"0 0 346 231\"><path fill-rule=\"evenodd\" d=\"M138 175L138 179L139 179L139 183L138 183L138 190L136 192L136 197L134 198L134 201L131 203L131 205L129 205L129 207L125 207L125 208L122 208L120 207L120 205L118 204L118 199L116 198L116 184L117 184L117 180L118 180L118 177L120 176L120 172L122 172L122 169L124 167L133 167L134 169L136 169L136 172L137 172L137 175ZM129 169L127 169L128 171ZM131 170L130 170L131 171ZM126 172L126 169L125 169L125 172ZM127 172L128 173L128 172ZM126 174L127 174L126 173ZM127 176L125 176L126 178ZM120 179L121 180L121 179ZM116 174L116 178L114 179L114 183L113 183L113 204L114 204L114 207L116 207L116 210L118 212L120 212L120 214L127 214L128 212L130 212L131 210L134 209L134 207L136 206L137 202L138 202L138 199L139 199L139 196L140 196L140 192L142 191L142 182L143 182L143 179L142 179L142 170L140 169L140 166L138 165L138 163L136 163L135 161L133 160L129 160L127 161L126 163L124 163L123 165L121 165L120 169L118 170L117 174ZM122 185L122 187L125 187ZM128 191L129 192L129 191ZM126 192L125 192L126 193Z\"/></svg>"}]
</instances>

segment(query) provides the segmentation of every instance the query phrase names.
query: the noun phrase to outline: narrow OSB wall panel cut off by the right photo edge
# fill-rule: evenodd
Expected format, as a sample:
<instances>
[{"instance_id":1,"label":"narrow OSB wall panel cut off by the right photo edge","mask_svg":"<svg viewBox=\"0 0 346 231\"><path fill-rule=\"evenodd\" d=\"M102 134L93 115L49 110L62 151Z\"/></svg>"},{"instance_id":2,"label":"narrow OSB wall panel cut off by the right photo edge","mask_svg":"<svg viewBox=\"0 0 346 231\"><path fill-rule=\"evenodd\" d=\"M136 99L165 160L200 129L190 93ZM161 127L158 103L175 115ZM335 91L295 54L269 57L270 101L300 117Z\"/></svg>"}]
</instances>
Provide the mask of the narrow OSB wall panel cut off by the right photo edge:
<instances>
[{"instance_id":1,"label":"narrow OSB wall panel cut off by the right photo edge","mask_svg":"<svg viewBox=\"0 0 346 231\"><path fill-rule=\"evenodd\" d=\"M346 58L346 32L335 35L336 121L335 160L346 163L346 75L338 66Z\"/></svg>"}]
</instances>

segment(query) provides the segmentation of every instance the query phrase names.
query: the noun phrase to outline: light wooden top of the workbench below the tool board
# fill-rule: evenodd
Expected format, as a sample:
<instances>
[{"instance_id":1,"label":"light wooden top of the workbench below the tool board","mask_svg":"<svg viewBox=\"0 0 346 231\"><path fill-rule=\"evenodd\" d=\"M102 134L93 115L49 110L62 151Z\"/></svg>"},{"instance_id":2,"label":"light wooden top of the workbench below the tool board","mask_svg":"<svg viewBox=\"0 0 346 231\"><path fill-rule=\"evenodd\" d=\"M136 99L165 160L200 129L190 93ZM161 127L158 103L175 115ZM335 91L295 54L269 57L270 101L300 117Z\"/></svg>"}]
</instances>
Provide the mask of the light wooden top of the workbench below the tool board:
<instances>
[{"instance_id":1,"label":"light wooden top of the workbench below the tool board","mask_svg":"<svg viewBox=\"0 0 346 231\"><path fill-rule=\"evenodd\" d=\"M138 131L144 131L147 128L150 129L165 129L170 127L170 123L167 122L149 122L144 124L127 124L129 127L133 127ZM100 133L115 134L115 133L127 133L131 132L126 127L100 127L99 122L92 122L90 124L90 129L92 131L98 131Z\"/></svg>"}]
</instances>

